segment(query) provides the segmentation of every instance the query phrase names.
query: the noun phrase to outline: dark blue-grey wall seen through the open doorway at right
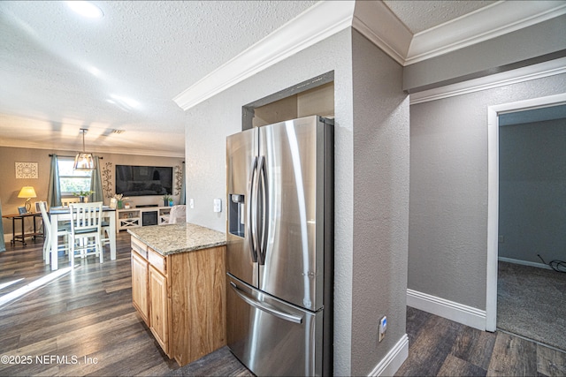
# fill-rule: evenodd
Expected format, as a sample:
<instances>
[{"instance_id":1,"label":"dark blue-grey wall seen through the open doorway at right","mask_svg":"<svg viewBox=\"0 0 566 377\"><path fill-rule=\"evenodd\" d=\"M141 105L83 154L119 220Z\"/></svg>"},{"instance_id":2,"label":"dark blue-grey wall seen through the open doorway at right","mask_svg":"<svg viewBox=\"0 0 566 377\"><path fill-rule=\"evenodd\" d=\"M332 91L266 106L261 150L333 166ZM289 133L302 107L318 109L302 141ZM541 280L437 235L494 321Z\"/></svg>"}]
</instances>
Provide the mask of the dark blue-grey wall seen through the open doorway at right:
<instances>
[{"instance_id":1,"label":"dark blue-grey wall seen through the open doorway at right","mask_svg":"<svg viewBox=\"0 0 566 377\"><path fill-rule=\"evenodd\" d=\"M500 257L564 260L566 119L499 128Z\"/></svg>"}]
</instances>

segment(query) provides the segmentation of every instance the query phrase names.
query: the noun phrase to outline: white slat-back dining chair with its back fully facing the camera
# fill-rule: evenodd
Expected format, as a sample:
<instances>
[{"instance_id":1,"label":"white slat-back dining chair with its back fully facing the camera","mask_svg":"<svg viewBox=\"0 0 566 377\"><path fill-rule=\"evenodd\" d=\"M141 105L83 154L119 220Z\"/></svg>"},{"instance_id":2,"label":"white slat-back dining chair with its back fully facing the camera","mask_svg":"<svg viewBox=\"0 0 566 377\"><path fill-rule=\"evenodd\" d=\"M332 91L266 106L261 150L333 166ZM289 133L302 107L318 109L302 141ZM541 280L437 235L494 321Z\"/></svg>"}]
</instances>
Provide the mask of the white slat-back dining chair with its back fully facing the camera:
<instances>
[{"instance_id":1,"label":"white slat-back dining chair with its back fully facing the camera","mask_svg":"<svg viewBox=\"0 0 566 377\"><path fill-rule=\"evenodd\" d=\"M101 238L103 202L69 203L71 213L70 253L71 267L78 256L85 258L88 255L98 255L103 263L103 245ZM80 242L77 242L80 241ZM76 251L80 254L75 255Z\"/></svg>"}]
</instances>

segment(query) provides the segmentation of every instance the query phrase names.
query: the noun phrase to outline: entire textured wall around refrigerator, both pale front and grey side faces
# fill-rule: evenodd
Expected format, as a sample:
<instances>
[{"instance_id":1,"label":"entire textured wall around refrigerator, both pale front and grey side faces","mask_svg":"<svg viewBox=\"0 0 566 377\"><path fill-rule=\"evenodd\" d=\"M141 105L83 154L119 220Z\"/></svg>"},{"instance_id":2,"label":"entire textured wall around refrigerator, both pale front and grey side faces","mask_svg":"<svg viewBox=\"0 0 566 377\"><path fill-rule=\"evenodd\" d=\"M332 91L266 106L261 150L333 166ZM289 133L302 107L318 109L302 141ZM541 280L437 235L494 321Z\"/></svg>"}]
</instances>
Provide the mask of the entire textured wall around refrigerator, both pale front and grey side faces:
<instances>
[{"instance_id":1,"label":"entire textured wall around refrigerator, both pale front and grey side faces","mask_svg":"<svg viewBox=\"0 0 566 377\"><path fill-rule=\"evenodd\" d=\"M405 334L409 105L398 64L345 30L187 110L187 198L195 198L187 218L226 230L225 213L213 214L211 203L226 197L225 140L241 130L241 106L329 71L335 101L334 373L367 374ZM391 327L378 344L383 314Z\"/></svg>"}]
</instances>

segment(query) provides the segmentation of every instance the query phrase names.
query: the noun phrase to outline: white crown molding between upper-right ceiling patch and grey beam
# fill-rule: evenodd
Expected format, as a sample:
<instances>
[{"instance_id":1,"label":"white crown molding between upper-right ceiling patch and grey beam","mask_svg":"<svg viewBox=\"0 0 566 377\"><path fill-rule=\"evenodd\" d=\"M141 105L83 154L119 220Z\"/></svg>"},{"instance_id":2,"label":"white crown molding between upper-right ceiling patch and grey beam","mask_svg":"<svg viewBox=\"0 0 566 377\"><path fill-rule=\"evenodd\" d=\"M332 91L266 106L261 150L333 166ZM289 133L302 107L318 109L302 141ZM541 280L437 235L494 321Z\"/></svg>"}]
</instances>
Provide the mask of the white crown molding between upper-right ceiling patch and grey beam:
<instances>
[{"instance_id":1,"label":"white crown molding between upper-right ceiling patch and grey beam","mask_svg":"<svg viewBox=\"0 0 566 377\"><path fill-rule=\"evenodd\" d=\"M413 36L405 65L509 34L566 13L556 1L500 1Z\"/></svg>"}]
</instances>

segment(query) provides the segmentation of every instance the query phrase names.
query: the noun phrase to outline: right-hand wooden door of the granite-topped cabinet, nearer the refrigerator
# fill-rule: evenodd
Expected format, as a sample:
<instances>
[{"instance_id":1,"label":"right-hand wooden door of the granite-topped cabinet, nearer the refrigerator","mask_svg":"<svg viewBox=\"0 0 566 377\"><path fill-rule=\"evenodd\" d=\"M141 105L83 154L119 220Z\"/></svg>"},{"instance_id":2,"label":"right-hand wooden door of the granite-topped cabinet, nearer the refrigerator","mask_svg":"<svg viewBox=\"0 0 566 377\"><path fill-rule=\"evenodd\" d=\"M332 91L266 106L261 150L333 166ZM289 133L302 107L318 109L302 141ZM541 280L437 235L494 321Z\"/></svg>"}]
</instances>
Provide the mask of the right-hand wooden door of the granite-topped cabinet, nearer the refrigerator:
<instances>
[{"instance_id":1,"label":"right-hand wooden door of the granite-topped cabinet, nearer the refrigerator","mask_svg":"<svg viewBox=\"0 0 566 377\"><path fill-rule=\"evenodd\" d=\"M149 305L149 329L163 351L169 355L167 279L151 265L149 265Z\"/></svg>"}]
</instances>

